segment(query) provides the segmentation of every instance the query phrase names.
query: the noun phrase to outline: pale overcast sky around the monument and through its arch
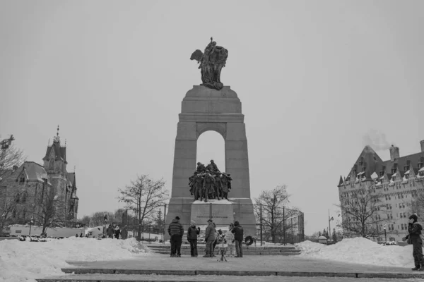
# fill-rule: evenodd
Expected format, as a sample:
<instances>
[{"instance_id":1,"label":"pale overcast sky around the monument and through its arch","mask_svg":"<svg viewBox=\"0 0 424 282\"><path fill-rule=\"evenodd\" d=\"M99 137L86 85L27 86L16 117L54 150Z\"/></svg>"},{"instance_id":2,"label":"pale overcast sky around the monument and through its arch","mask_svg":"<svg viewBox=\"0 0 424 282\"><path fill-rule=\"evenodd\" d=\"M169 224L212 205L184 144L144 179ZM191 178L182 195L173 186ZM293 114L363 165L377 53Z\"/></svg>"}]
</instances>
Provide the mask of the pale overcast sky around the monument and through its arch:
<instances>
[{"instance_id":1,"label":"pale overcast sky around the monument and through its arch","mask_svg":"<svg viewBox=\"0 0 424 282\"><path fill-rule=\"evenodd\" d=\"M401 156L420 151L423 11L424 1L4 0L0 134L42 163L60 125L80 218L122 207L117 188L137 174L170 190L181 101L201 83L189 57L213 37L229 52L221 81L242 101L252 197L286 184L305 232L322 231L365 143L384 134ZM201 135L198 159L224 170L223 137Z\"/></svg>"}]
</instances>

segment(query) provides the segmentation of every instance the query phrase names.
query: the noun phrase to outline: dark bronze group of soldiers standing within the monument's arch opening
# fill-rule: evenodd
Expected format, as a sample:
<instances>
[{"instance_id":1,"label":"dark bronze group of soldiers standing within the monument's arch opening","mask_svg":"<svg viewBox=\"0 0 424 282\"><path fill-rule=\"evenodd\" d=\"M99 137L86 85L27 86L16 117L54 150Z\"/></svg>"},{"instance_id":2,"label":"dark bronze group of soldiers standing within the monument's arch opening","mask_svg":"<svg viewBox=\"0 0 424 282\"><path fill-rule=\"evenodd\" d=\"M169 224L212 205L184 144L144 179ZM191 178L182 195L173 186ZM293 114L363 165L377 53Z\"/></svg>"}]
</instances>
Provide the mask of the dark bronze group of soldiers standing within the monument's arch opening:
<instances>
[{"instance_id":1,"label":"dark bronze group of soldiers standing within the monument's arch opening","mask_svg":"<svg viewBox=\"0 0 424 282\"><path fill-rule=\"evenodd\" d=\"M231 190L231 176L225 172L221 173L213 159L206 167L197 163L194 175L189 178L190 195L194 200L227 199Z\"/></svg>"}]
</instances>

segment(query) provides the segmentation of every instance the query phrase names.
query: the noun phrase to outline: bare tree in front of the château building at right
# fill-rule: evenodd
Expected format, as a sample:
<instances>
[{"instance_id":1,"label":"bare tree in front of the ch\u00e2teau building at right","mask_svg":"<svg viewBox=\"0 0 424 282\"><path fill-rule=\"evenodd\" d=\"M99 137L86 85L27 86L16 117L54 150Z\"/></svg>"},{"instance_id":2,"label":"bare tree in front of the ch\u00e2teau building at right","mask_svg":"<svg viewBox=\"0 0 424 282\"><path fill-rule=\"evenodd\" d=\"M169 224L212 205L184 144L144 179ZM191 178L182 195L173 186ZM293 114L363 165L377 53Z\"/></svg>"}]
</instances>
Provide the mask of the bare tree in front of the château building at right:
<instances>
[{"instance_id":1,"label":"bare tree in front of the ch\u00e2teau building at right","mask_svg":"<svg viewBox=\"0 0 424 282\"><path fill-rule=\"evenodd\" d=\"M346 193L342 204L336 205L341 209L343 220L338 227L343 228L343 235L349 237L378 237L384 235L379 225L387 222L387 204L380 198L382 193L375 192L375 186L353 190Z\"/></svg>"}]
</instances>

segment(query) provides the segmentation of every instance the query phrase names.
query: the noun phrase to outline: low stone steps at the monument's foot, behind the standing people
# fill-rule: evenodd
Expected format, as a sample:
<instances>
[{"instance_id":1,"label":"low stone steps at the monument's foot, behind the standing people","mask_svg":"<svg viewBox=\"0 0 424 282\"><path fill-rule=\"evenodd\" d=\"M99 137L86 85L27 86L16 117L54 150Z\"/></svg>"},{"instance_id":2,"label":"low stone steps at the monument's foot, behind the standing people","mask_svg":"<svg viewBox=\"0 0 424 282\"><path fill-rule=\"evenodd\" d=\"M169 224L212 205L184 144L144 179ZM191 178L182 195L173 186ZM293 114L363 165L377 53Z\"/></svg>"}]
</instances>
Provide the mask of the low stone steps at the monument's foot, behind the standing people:
<instances>
[{"instance_id":1,"label":"low stone steps at the monument's foot, behind the standing people","mask_svg":"<svg viewBox=\"0 0 424 282\"><path fill-rule=\"evenodd\" d=\"M148 245L148 247L155 253L170 255L170 245ZM197 244L197 251L199 255L204 255L205 244ZM216 254L218 253L218 247L215 249ZM190 245L183 244L181 246L181 255L190 255ZM249 247L243 246L243 255L300 255L294 245L276 245L276 246L257 246L251 245Z\"/></svg>"}]
</instances>

